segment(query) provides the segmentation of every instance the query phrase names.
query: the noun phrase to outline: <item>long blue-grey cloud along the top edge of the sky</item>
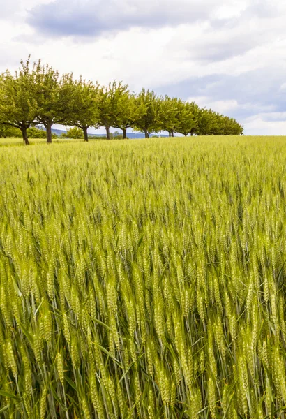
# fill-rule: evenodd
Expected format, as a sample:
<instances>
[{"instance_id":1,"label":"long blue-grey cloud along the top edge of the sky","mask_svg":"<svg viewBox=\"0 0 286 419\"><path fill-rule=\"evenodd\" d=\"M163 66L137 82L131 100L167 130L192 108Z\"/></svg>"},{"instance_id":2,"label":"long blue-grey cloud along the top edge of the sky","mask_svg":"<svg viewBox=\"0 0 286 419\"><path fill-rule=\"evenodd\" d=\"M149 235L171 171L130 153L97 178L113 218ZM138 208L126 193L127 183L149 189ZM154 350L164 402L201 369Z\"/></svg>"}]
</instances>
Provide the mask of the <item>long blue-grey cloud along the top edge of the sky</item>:
<instances>
[{"instance_id":1,"label":"long blue-grey cloud along the top edge of the sky","mask_svg":"<svg viewBox=\"0 0 286 419\"><path fill-rule=\"evenodd\" d=\"M97 36L204 20L216 7L216 0L55 0L30 10L27 22L52 36Z\"/></svg>"}]
</instances>

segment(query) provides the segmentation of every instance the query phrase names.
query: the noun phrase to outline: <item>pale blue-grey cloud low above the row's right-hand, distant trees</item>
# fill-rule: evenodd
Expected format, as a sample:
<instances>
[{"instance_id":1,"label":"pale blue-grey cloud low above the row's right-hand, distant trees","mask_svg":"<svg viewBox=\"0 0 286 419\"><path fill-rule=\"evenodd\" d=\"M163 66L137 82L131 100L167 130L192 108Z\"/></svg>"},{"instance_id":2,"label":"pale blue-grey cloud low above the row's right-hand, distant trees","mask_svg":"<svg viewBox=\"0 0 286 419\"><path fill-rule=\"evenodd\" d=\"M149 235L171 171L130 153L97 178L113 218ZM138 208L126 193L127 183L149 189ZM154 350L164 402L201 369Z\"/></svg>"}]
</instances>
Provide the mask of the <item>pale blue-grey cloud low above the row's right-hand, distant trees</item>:
<instances>
[{"instance_id":1,"label":"pale blue-grey cloud low above the row's right-hand, distant trees","mask_svg":"<svg viewBox=\"0 0 286 419\"><path fill-rule=\"evenodd\" d=\"M269 67L237 76L209 75L190 78L155 90L158 94L179 96L185 100L202 98L200 105L205 105L206 108L209 103L215 105L223 101L229 102L229 109L223 113L240 122L258 114L263 114L264 121L281 121L286 119L286 95L280 89L285 81L283 69L273 72L273 67ZM232 101L237 105L232 106Z\"/></svg>"}]
</instances>

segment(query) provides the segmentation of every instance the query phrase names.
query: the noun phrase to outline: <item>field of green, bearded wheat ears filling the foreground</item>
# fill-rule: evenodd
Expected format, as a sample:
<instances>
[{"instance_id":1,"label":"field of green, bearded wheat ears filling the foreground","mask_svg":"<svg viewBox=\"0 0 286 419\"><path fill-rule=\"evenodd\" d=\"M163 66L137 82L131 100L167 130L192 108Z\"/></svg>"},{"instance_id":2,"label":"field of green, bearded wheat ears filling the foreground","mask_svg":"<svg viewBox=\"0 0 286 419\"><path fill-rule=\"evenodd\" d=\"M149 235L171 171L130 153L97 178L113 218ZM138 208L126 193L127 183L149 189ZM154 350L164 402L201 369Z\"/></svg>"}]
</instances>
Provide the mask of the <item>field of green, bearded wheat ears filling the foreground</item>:
<instances>
[{"instance_id":1,"label":"field of green, bearded wheat ears filling the foreground","mask_svg":"<svg viewBox=\"0 0 286 419\"><path fill-rule=\"evenodd\" d=\"M285 418L286 138L0 148L0 417Z\"/></svg>"}]
</instances>

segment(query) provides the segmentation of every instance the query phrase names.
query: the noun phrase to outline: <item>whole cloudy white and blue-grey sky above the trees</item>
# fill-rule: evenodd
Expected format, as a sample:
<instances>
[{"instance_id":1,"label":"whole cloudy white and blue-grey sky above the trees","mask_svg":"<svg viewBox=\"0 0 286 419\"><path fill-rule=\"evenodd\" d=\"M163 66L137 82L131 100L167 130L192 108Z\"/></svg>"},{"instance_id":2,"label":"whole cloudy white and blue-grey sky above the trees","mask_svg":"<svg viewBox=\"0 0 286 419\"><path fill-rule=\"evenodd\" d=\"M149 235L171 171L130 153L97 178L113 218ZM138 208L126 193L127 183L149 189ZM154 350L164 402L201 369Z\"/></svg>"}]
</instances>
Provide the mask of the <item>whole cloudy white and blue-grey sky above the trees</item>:
<instances>
[{"instance_id":1,"label":"whole cloudy white and blue-grey sky above the trees","mask_svg":"<svg viewBox=\"0 0 286 419\"><path fill-rule=\"evenodd\" d=\"M0 0L0 71L61 73L195 100L286 135L285 0Z\"/></svg>"}]
</instances>

